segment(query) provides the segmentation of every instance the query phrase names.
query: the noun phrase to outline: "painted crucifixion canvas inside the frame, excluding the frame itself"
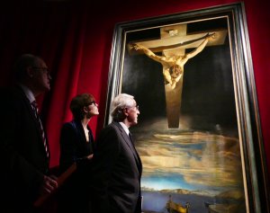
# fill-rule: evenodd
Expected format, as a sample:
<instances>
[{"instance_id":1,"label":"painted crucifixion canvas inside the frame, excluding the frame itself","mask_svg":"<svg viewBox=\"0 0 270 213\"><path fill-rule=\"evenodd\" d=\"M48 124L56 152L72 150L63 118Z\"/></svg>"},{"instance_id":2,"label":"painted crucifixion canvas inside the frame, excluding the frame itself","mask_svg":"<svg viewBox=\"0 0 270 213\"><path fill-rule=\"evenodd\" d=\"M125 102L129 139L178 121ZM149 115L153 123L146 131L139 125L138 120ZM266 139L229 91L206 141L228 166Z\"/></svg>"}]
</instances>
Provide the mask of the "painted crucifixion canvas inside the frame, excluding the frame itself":
<instances>
[{"instance_id":1,"label":"painted crucifixion canvas inside the frame, excluding the frame itself","mask_svg":"<svg viewBox=\"0 0 270 213\"><path fill-rule=\"evenodd\" d=\"M133 132L144 163L145 210L166 212L179 193L194 193L183 196L181 208L206 213L217 205L210 198L229 193L240 196L231 212L246 211L226 18L127 33L121 92L133 94L141 109ZM170 201L154 208L149 200L161 195ZM226 205L221 209L232 208Z\"/></svg>"}]
</instances>

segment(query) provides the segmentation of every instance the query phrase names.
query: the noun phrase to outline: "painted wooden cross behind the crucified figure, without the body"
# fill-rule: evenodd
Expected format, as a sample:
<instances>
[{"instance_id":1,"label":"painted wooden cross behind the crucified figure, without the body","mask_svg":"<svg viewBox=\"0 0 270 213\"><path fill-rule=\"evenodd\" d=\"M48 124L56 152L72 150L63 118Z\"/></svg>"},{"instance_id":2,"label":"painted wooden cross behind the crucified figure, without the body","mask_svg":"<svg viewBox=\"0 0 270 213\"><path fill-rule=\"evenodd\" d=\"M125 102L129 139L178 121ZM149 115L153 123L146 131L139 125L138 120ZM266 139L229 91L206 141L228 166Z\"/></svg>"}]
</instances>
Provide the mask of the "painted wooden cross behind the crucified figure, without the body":
<instances>
[{"instance_id":1,"label":"painted wooden cross behind the crucified figure, without the body","mask_svg":"<svg viewBox=\"0 0 270 213\"><path fill-rule=\"evenodd\" d=\"M224 44L228 33L227 30L202 31L193 34L186 34L186 24L178 24L160 28L160 39L139 41L139 44L153 53L162 52L165 57L184 56L185 49L198 48L202 44L203 37L207 33L214 34L214 40L209 40L206 46L216 46ZM130 42L129 51L132 54L144 54L141 50L133 48L134 42ZM166 93L166 117L169 129L178 129L180 121L180 110L182 102L184 72L180 80L172 88L170 84L165 84Z\"/></svg>"}]
</instances>

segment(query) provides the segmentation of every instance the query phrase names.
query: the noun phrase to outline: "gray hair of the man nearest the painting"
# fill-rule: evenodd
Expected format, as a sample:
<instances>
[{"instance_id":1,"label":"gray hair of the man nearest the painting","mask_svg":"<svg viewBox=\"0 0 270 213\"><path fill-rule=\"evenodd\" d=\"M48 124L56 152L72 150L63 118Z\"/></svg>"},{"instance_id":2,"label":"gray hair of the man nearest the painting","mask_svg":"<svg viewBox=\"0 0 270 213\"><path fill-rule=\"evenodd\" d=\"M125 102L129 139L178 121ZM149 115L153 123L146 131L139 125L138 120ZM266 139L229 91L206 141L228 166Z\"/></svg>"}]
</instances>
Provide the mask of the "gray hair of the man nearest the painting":
<instances>
[{"instance_id":1,"label":"gray hair of the man nearest the painting","mask_svg":"<svg viewBox=\"0 0 270 213\"><path fill-rule=\"evenodd\" d=\"M134 97L127 93L117 95L111 104L111 116L114 121L122 121L125 119L123 109L126 107L133 107L135 104Z\"/></svg>"}]
</instances>

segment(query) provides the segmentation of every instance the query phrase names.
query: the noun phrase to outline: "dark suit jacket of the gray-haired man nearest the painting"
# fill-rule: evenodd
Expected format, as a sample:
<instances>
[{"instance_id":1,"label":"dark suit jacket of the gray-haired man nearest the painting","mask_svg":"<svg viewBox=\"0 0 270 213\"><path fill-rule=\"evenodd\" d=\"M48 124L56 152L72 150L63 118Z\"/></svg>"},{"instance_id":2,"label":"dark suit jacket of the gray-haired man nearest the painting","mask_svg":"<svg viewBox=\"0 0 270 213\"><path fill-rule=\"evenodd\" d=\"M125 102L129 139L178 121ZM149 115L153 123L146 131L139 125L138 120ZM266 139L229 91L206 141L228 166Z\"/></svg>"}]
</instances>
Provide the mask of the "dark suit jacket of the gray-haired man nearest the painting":
<instances>
[{"instance_id":1,"label":"dark suit jacket of the gray-haired man nearest the painting","mask_svg":"<svg viewBox=\"0 0 270 213\"><path fill-rule=\"evenodd\" d=\"M93 213L140 213L142 165L129 136L118 122L112 122L101 131L95 146Z\"/></svg>"}]
</instances>

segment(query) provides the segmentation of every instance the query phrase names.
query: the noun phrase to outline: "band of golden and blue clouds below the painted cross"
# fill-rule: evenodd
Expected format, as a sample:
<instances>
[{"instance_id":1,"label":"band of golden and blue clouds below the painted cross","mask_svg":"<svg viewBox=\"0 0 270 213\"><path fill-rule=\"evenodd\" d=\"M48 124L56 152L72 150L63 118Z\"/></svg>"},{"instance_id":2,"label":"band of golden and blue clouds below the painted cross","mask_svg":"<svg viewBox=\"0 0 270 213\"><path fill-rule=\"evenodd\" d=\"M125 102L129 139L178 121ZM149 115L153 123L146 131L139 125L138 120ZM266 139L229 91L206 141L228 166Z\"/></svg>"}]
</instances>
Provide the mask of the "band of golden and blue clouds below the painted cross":
<instances>
[{"instance_id":1,"label":"band of golden and blue clouds below the painted cross","mask_svg":"<svg viewBox=\"0 0 270 213\"><path fill-rule=\"evenodd\" d=\"M143 163L145 187L159 190L242 187L238 138L225 137L220 132L148 129L147 135L140 131L137 149Z\"/></svg>"}]
</instances>

